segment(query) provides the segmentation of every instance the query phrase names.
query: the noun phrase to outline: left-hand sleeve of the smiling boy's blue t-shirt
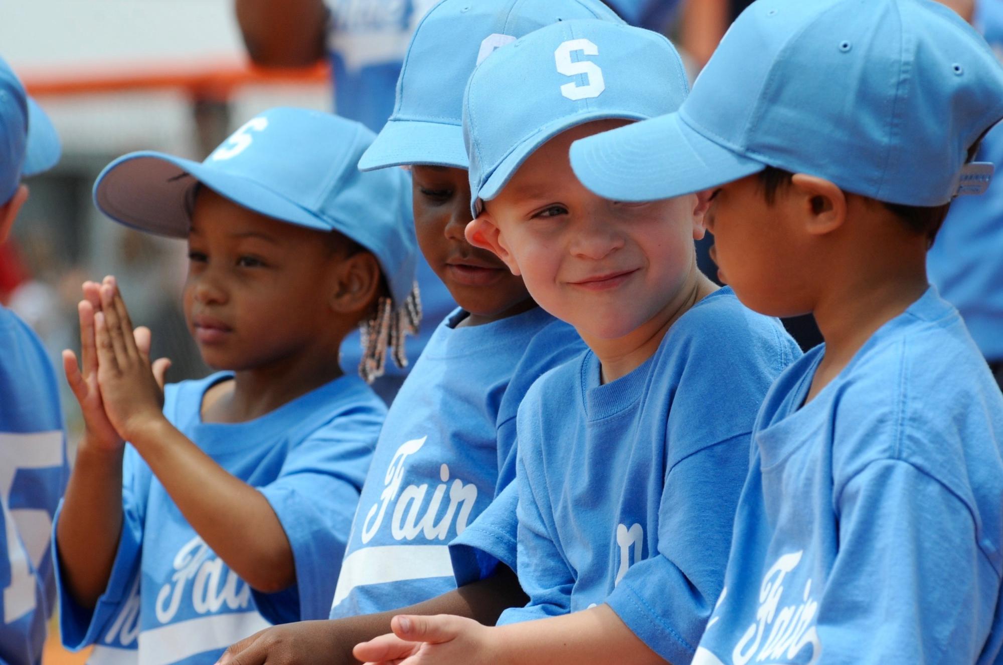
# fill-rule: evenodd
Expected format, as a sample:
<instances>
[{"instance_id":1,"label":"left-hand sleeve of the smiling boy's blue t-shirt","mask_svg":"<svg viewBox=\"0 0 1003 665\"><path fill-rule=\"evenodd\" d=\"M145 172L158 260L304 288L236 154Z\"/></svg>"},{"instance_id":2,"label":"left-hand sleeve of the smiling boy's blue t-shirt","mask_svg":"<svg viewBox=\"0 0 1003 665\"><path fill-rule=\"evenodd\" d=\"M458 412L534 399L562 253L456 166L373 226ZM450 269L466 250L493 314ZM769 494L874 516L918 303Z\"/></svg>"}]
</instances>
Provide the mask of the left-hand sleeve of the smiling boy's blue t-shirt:
<instances>
[{"instance_id":1,"label":"left-hand sleeve of the smiling boy's blue t-shirt","mask_svg":"<svg viewBox=\"0 0 1003 665\"><path fill-rule=\"evenodd\" d=\"M538 493L527 476L523 456L520 451L516 478L519 485L517 557L519 582L530 602L524 608L503 612L497 621L499 626L568 614L575 587L575 576L555 544L537 503Z\"/></svg>"}]
</instances>

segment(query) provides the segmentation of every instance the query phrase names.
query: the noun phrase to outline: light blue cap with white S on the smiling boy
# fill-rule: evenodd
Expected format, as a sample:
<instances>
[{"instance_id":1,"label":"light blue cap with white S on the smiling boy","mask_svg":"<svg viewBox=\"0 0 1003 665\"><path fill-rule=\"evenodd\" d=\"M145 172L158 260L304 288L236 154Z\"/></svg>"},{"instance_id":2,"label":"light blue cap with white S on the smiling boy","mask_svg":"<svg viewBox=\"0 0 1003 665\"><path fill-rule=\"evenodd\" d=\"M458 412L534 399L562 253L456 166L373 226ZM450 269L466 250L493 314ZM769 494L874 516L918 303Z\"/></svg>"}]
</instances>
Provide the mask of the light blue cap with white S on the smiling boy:
<instances>
[{"instance_id":1,"label":"light blue cap with white S on the smiling boy","mask_svg":"<svg viewBox=\"0 0 1003 665\"><path fill-rule=\"evenodd\" d=\"M498 50L473 72L463 98L473 214L558 134L594 120L668 113L687 92L676 49L642 28L563 21Z\"/></svg>"}]
</instances>

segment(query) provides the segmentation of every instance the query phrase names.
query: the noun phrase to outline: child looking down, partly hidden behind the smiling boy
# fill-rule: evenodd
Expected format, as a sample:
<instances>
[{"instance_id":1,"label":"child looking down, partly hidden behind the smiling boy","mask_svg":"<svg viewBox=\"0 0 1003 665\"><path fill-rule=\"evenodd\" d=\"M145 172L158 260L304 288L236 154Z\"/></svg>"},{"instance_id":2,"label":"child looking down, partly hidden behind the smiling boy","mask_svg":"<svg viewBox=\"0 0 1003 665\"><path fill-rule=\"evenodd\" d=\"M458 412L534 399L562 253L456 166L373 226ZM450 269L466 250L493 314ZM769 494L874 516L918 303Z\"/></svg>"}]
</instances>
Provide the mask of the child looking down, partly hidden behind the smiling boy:
<instances>
[{"instance_id":1,"label":"child looking down, partly hidden behind the smiling boy","mask_svg":"<svg viewBox=\"0 0 1003 665\"><path fill-rule=\"evenodd\" d=\"M438 326L387 415L334 596L335 621L277 626L235 645L225 661L354 663L352 648L386 633L402 607L493 623L526 603L513 573L516 413L537 378L585 346L537 305L521 277L463 236L470 190L462 95L478 60L576 17L620 23L595 0L445 0L415 32L397 110L360 167L410 167L418 244L460 308ZM510 525L481 529L485 509ZM457 536L467 547L447 548ZM456 591L457 581L467 586Z\"/></svg>"}]
</instances>

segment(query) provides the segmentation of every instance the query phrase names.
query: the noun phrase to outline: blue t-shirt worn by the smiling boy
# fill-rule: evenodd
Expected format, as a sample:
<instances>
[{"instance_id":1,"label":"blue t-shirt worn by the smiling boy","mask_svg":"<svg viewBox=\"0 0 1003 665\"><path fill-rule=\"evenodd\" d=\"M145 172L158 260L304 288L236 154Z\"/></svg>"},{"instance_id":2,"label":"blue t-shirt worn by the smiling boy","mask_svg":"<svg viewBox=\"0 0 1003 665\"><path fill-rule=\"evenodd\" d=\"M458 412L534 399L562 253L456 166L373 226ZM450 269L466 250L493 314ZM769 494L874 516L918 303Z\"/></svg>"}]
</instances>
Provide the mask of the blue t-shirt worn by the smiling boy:
<instances>
[{"instance_id":1,"label":"blue t-shirt worn by the smiling boy","mask_svg":"<svg viewBox=\"0 0 1003 665\"><path fill-rule=\"evenodd\" d=\"M672 663L693 656L724 581L756 412L800 352L720 289L655 355L600 385L590 352L519 410L519 579L499 624L607 603Z\"/></svg>"}]
</instances>

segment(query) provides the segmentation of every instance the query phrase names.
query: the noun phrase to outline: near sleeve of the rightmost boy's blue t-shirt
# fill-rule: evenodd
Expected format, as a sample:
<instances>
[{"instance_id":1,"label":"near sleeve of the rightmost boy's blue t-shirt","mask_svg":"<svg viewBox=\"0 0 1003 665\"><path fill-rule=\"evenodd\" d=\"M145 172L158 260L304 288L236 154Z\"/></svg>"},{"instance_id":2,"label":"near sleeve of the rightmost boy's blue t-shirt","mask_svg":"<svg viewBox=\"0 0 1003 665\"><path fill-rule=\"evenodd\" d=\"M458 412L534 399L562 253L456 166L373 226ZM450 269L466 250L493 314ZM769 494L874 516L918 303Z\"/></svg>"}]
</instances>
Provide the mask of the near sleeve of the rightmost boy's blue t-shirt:
<instances>
[{"instance_id":1,"label":"near sleeve of the rightmost boy's blue t-shirt","mask_svg":"<svg viewBox=\"0 0 1003 665\"><path fill-rule=\"evenodd\" d=\"M839 555L811 594L821 662L976 662L1000 582L966 504L913 465L881 460L835 505Z\"/></svg>"}]
</instances>

